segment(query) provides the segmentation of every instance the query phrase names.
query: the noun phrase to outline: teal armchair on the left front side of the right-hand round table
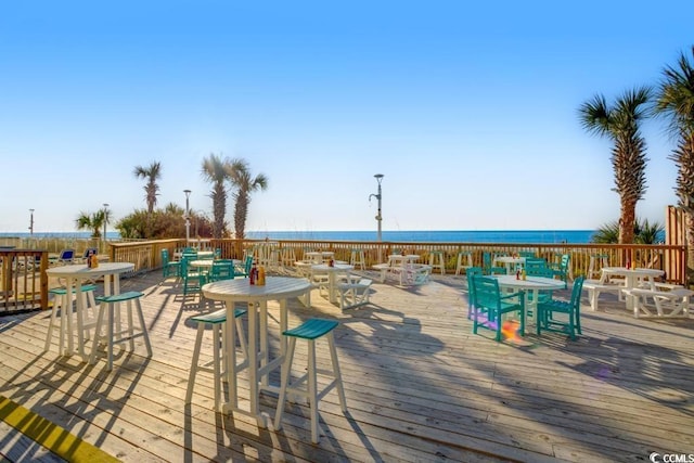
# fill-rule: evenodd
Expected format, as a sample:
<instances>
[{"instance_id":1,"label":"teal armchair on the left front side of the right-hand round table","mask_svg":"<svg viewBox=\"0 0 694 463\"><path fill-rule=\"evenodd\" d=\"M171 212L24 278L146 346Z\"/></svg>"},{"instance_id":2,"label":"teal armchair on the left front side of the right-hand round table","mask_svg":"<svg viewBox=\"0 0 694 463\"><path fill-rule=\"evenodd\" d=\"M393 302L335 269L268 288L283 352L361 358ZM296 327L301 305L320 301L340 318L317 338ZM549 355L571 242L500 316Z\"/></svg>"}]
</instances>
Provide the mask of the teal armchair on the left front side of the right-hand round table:
<instances>
[{"instance_id":1,"label":"teal armchair on the left front side of the right-hand round table","mask_svg":"<svg viewBox=\"0 0 694 463\"><path fill-rule=\"evenodd\" d=\"M501 295L499 282L491 276L474 276L475 310L473 313L473 334L479 326L496 332L494 339L501 340L502 317L505 313L517 313L520 319L520 336L525 335L525 297L517 292Z\"/></svg>"}]
</instances>

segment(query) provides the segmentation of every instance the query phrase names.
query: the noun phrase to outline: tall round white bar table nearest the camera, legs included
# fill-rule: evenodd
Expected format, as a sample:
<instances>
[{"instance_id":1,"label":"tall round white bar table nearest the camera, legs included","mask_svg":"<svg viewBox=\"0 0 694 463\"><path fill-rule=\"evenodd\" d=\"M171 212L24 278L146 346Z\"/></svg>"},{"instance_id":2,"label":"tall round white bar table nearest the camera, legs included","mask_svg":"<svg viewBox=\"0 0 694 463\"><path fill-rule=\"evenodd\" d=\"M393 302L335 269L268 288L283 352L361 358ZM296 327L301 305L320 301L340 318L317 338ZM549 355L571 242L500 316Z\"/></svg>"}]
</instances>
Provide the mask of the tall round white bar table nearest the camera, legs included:
<instances>
[{"instance_id":1,"label":"tall round white bar table nearest the camera, legs included","mask_svg":"<svg viewBox=\"0 0 694 463\"><path fill-rule=\"evenodd\" d=\"M221 300L227 307L226 337L227 374L229 381L229 402L222 408L224 413L240 412L255 417L260 427L266 421L260 413L260 390L278 391L270 386L268 377L278 366L284 368L286 338L281 335L287 330L286 300L310 291L310 283L304 279L287 276L268 276L264 286L249 284L250 279L221 280L203 286L203 295L213 300ZM280 303L280 356L269 359L268 345L268 300ZM234 304L248 305L248 388L250 410L239 408L236 387L236 346L234 323ZM259 327L259 330L258 330ZM260 336L258 339L258 331Z\"/></svg>"}]
</instances>

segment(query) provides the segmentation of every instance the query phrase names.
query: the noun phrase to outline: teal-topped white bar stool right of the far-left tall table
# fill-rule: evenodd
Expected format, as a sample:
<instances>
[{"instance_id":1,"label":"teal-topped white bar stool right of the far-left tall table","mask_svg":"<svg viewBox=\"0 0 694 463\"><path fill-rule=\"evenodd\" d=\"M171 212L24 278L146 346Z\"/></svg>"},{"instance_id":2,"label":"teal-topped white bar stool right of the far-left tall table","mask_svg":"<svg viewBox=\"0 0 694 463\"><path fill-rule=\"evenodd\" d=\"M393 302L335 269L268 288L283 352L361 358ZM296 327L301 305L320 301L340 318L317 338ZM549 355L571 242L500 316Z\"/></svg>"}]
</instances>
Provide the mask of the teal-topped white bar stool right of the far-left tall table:
<instances>
[{"instance_id":1,"label":"teal-topped white bar stool right of the far-left tall table","mask_svg":"<svg viewBox=\"0 0 694 463\"><path fill-rule=\"evenodd\" d=\"M97 300L101 303L99 306L99 317L97 318L97 329L91 347L91 355L89 356L89 363L94 364L97 362L97 348L100 342L106 344L107 364L106 370L113 369L113 345L130 343L130 350L134 351L134 338L143 337L144 345L147 349L147 357L152 357L152 345L150 344L150 336L147 335L147 327L144 324L144 316L142 314L142 306L140 305L140 298L144 296L143 293L138 291L129 291L127 293L114 294L111 296L100 296ZM128 327L126 330L120 329L120 310L117 310L117 319L114 320L114 312L116 312L116 305L125 303L127 307ZM138 312L138 321L140 327L136 331L132 321L132 305L134 304L136 311ZM107 313L104 313L107 312ZM106 320L104 321L104 316ZM106 324L106 334L102 334L102 329ZM114 324L118 326L118 331L114 331ZM124 336L125 335L125 336Z\"/></svg>"}]
</instances>

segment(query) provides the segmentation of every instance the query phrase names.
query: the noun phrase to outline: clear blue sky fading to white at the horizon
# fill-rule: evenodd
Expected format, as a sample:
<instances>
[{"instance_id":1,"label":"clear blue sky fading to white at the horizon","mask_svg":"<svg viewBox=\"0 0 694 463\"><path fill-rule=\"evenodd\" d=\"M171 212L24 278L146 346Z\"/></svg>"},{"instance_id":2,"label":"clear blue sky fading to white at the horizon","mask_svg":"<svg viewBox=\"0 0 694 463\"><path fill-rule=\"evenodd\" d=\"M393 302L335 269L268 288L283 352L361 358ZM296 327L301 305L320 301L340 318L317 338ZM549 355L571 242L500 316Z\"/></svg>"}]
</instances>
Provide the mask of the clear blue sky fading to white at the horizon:
<instances>
[{"instance_id":1,"label":"clear blue sky fading to white at the horizon","mask_svg":"<svg viewBox=\"0 0 694 463\"><path fill-rule=\"evenodd\" d=\"M594 229L619 214L609 141L577 108L656 85L694 44L691 0L4 2L0 232L80 211L211 214L201 164L269 189L247 231ZM643 126L638 215L676 204L673 142ZM231 218L231 206L228 218Z\"/></svg>"}]
</instances>

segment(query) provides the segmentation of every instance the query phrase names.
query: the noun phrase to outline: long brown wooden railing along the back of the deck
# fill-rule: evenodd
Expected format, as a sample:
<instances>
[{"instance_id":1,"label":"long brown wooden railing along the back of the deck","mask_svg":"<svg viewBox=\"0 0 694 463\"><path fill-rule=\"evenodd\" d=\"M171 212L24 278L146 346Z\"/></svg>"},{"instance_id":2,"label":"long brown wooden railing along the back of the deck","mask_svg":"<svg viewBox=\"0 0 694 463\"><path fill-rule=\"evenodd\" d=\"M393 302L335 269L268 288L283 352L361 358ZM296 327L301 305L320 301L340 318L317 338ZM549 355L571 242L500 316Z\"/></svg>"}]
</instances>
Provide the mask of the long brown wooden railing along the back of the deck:
<instances>
[{"instance_id":1,"label":"long brown wooden railing along the back of the deck","mask_svg":"<svg viewBox=\"0 0 694 463\"><path fill-rule=\"evenodd\" d=\"M211 248L220 248L224 258L242 259L245 253L264 245L261 240L211 240ZM535 244L535 243L411 243L411 242L350 242L350 241L316 241L292 240L277 241L275 246L282 249L292 248L297 259L301 259L306 250L332 250L335 259L348 261L351 249L364 250L367 267L383 262L395 253L416 254L422 261L428 261L433 250L442 250L447 273L455 270L458 253L472 253L473 265L481 266L483 253L515 254L531 250L548 261L557 261L562 254L570 255L570 273L575 276L588 274L590 257L607 256L609 266L621 267L631 262L635 267L655 268L665 271L665 280L672 283L685 283L686 253L684 246L674 245L640 245L640 244ZM185 240L159 240L138 243L110 244L112 261L136 263L136 271L147 271L162 267L162 249L169 249L174 255L177 247L185 246ZM595 259L594 271L599 272L602 259Z\"/></svg>"}]
</instances>

